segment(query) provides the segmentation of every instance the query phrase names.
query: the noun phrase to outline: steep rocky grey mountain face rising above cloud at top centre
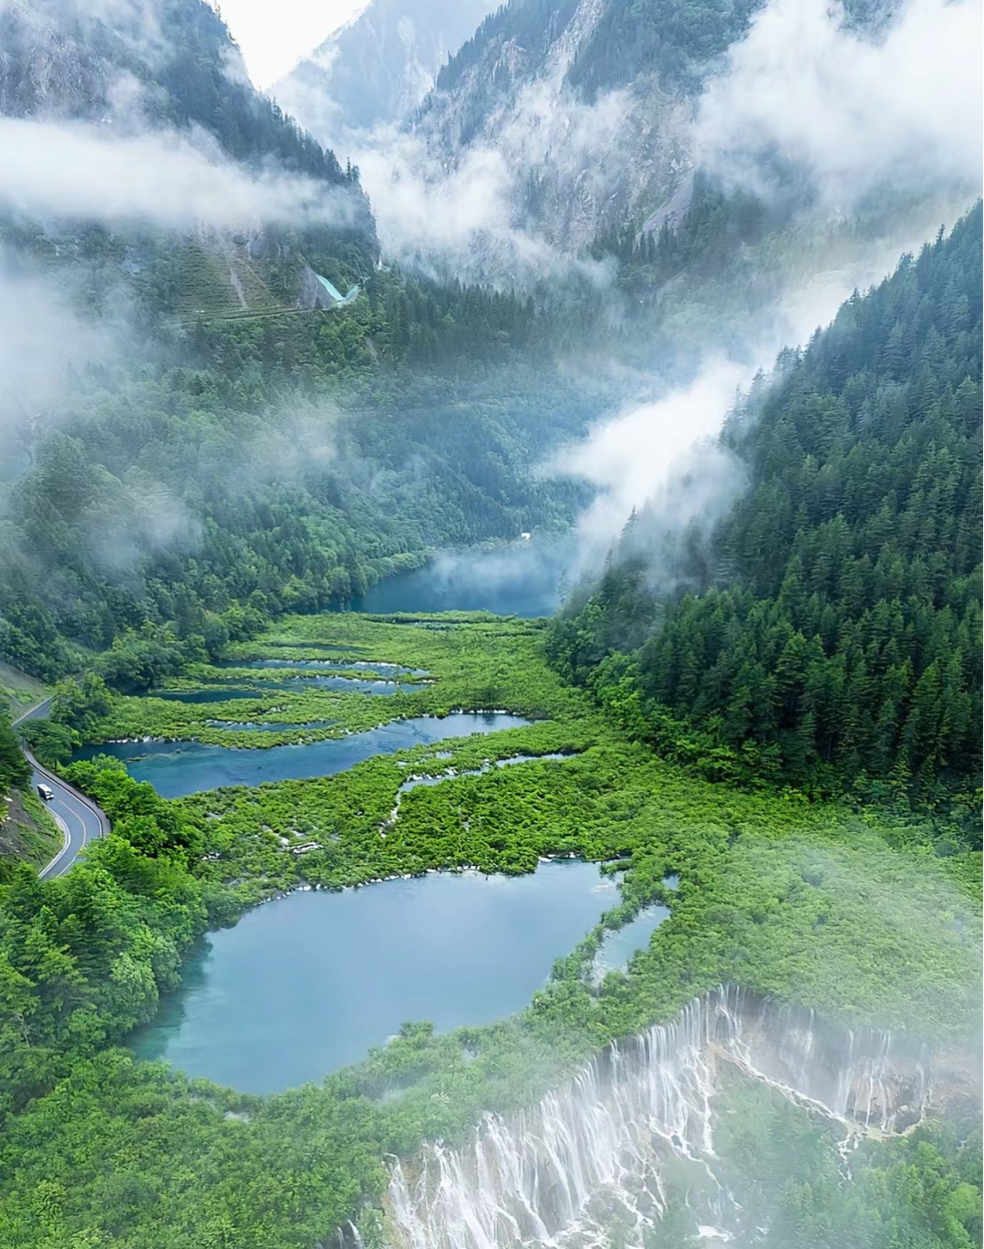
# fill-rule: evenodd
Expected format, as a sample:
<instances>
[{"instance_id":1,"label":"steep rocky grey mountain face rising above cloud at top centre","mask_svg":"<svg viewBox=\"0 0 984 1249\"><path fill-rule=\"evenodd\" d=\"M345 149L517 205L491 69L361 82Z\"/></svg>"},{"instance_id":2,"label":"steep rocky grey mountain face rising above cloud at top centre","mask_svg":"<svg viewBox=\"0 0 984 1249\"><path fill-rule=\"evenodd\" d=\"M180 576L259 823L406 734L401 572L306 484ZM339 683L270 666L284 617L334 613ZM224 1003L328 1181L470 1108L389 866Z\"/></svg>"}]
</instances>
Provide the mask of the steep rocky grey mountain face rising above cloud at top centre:
<instances>
[{"instance_id":1,"label":"steep rocky grey mountain face rising above cloud at top centre","mask_svg":"<svg viewBox=\"0 0 984 1249\"><path fill-rule=\"evenodd\" d=\"M513 172L512 225L567 252L644 219L689 185L693 100L754 7L512 0L421 106L430 176L494 150Z\"/></svg>"}]
</instances>

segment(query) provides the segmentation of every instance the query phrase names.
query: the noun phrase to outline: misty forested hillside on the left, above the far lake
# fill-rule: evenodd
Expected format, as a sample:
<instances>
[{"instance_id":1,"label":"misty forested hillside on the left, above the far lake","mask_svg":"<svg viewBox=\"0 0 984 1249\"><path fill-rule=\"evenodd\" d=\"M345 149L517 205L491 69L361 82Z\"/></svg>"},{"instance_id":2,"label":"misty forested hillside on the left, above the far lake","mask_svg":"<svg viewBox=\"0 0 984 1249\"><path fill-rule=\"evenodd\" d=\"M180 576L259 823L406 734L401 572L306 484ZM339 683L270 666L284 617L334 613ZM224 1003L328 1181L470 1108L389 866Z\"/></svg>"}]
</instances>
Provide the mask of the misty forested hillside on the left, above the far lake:
<instances>
[{"instance_id":1,"label":"misty forested hillside on the left, above the far lake","mask_svg":"<svg viewBox=\"0 0 984 1249\"><path fill-rule=\"evenodd\" d=\"M563 530L583 490L531 465L592 397L537 363L537 320L380 275L343 320L202 322L170 365L84 378L5 487L0 656L54 679L109 649L149 684L428 551Z\"/></svg>"}]
</instances>

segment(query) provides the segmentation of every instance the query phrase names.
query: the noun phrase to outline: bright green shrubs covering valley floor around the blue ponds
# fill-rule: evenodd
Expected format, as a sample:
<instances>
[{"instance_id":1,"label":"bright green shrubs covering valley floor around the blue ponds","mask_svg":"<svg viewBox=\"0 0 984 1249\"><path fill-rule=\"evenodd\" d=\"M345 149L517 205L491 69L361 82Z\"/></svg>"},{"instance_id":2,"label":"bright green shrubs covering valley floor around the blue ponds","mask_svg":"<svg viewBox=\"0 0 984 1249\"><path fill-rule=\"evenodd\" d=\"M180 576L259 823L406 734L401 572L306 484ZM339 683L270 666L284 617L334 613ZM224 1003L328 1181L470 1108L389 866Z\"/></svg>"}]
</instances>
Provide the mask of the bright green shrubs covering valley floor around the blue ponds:
<instances>
[{"instance_id":1,"label":"bright green shrubs covering valley floor around the blue ponds","mask_svg":"<svg viewBox=\"0 0 984 1249\"><path fill-rule=\"evenodd\" d=\"M852 1023L974 1034L979 856L947 853L954 847L929 823L810 803L793 792L739 792L661 762L586 694L559 683L541 653L542 636L536 623L482 616L288 618L235 657L398 663L433 679L407 696L422 699L416 709L496 707L539 718L322 779L174 802L130 781L119 763L72 767L110 811L115 832L92 847L89 862L45 886L44 897L34 899L35 886L19 879L5 899L11 967L24 962L24 933L36 927L40 902L51 916L69 916L64 929L49 921L45 939L79 959L79 970L66 964L57 974L76 977L65 983L82 994L82 1009L51 1014L47 998L62 980L39 980L52 1039L44 1050L36 1043L21 1049L10 1068L11 1095L22 1097L24 1080L37 1082L39 1070L56 1077L47 1095L35 1095L4 1125L0 1240L39 1249L310 1249L358 1217L366 1243L376 1244L368 1229L378 1225L386 1154L410 1155L422 1139L461 1138L488 1109L529 1104L606 1040L671 1018L722 980ZM303 698L318 718L338 701L323 692ZM234 714L245 702L230 704ZM345 696L338 713L353 708L353 723L373 702L380 718L400 708L396 697ZM216 704L120 699L102 729L119 732L140 707L149 721L159 709L174 712L172 723L186 733L200 713L216 716ZM572 757L453 774L548 753ZM400 793L410 777L446 773L437 786ZM293 853L311 842L317 844ZM189 1080L106 1048L154 1013L159 992L176 983L181 952L206 924L234 923L272 892L302 881L338 888L466 863L523 872L541 856L571 853L608 861L603 871L617 876L622 902L557 962L518 1015L445 1035L408 1022L357 1067L270 1098ZM671 872L679 876L676 889L663 884ZM76 893L92 917L85 931L70 927ZM626 973L596 983L592 960L604 932L653 901L669 908L669 919ZM40 974L32 968L24 964L22 974ZM82 969L85 982L77 979ZM10 992L11 1009L22 1012L26 989L16 975ZM90 997L100 1003L101 1033L85 1010ZM54 1005L61 1000L52 998ZM76 1025L82 1017L85 1027ZM20 1033L11 1030L10 1039L19 1045ZM779 1170L782 1140L799 1132L788 1118L780 1107L779 1144L769 1155ZM740 1127L736 1120L734 1130ZM924 1154L920 1145L913 1155L919 1167ZM875 1159L882 1162L885 1174L909 1174L907 1148ZM740 1159L737 1165L740 1172ZM800 1175L802 1168L792 1169ZM934 1192L949 1210L965 1195L963 1172L937 1169L948 1178ZM823 1187L820 1229L838 1177L824 1162L803 1182ZM736 1184L750 1185L749 1199L755 1179L736 1174ZM799 1190L783 1184L788 1227L802 1203ZM870 1244L880 1249L883 1242Z\"/></svg>"}]
</instances>

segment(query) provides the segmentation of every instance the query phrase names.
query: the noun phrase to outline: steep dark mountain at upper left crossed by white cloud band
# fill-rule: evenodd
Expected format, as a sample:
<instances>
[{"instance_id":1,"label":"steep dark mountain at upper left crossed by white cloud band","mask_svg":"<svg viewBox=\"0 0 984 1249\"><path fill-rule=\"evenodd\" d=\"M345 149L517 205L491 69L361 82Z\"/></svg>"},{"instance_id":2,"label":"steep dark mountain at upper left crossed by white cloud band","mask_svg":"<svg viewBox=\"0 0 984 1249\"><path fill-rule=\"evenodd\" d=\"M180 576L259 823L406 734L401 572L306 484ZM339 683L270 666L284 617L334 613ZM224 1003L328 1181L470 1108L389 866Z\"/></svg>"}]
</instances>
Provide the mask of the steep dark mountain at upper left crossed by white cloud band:
<instances>
[{"instance_id":1,"label":"steep dark mountain at upper left crossed by white cloud band","mask_svg":"<svg viewBox=\"0 0 984 1249\"><path fill-rule=\"evenodd\" d=\"M0 189L0 242L59 280L84 266L102 305L282 310L308 260L345 289L376 262L357 176L251 86L202 0L4 7L4 119L11 151L34 146L39 159ZM71 195L59 192L60 165L77 166ZM316 200L331 215L310 211Z\"/></svg>"}]
</instances>

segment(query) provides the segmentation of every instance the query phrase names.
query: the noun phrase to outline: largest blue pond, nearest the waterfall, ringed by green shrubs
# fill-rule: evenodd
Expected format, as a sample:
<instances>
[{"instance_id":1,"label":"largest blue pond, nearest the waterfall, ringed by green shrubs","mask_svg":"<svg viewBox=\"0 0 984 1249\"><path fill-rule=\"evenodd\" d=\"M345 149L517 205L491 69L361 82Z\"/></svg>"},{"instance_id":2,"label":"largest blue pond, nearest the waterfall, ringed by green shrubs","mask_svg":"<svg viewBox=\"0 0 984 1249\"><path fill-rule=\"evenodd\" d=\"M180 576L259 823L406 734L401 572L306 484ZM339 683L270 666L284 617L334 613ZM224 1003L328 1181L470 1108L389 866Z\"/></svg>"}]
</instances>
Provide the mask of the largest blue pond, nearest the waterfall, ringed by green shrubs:
<instances>
[{"instance_id":1,"label":"largest blue pond, nearest the waterfall, ringed by green shrubs","mask_svg":"<svg viewBox=\"0 0 984 1249\"><path fill-rule=\"evenodd\" d=\"M250 1093L318 1080L406 1020L447 1032L519 1010L617 903L581 862L292 893L210 934L130 1044Z\"/></svg>"}]
</instances>

